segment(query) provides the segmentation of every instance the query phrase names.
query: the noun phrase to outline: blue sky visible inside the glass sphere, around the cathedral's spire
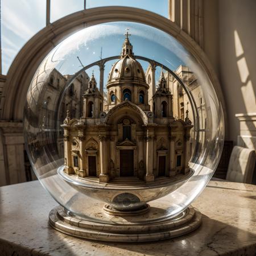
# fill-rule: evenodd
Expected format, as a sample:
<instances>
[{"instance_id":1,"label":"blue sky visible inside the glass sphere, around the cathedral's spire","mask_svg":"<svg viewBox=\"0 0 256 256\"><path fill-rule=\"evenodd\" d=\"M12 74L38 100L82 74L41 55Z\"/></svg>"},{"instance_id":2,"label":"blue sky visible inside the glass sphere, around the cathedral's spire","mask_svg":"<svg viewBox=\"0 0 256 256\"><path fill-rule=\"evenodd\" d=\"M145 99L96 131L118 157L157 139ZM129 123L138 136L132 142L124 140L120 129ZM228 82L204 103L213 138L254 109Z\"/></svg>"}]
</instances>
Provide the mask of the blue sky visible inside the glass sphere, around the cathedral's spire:
<instances>
[{"instance_id":1,"label":"blue sky visible inside the glass sphere, around the cathedral's spire","mask_svg":"<svg viewBox=\"0 0 256 256\"><path fill-rule=\"evenodd\" d=\"M167 33L141 23L109 22L84 28L63 40L42 62L42 72L50 73L55 68L63 75L73 75L79 72L82 66L86 67L100 60L101 53L102 59L118 57L122 51L127 28L131 34L129 40L133 45L134 55L158 61L173 71L179 65L184 65L187 51ZM109 61L105 65L104 84L115 61L117 60ZM142 60L139 62L146 71L148 63ZM156 82L159 79L160 69L160 67L156 69ZM89 76L92 75L92 71L99 81L99 67L94 66L86 70Z\"/></svg>"}]
</instances>

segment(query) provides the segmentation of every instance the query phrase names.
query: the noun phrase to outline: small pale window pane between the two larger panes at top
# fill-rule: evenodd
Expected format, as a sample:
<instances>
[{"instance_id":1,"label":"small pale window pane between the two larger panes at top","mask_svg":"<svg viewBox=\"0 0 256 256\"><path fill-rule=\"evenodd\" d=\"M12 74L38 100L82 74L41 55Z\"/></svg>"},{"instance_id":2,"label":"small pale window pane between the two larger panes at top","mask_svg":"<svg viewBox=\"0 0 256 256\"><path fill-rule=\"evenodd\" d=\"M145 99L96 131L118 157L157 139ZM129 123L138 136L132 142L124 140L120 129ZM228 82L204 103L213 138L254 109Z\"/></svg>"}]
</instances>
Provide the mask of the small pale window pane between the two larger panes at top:
<instances>
[{"instance_id":1,"label":"small pale window pane between the two larger panes at top","mask_svg":"<svg viewBox=\"0 0 256 256\"><path fill-rule=\"evenodd\" d=\"M51 22L84 9L84 0L51 0Z\"/></svg>"}]
</instances>

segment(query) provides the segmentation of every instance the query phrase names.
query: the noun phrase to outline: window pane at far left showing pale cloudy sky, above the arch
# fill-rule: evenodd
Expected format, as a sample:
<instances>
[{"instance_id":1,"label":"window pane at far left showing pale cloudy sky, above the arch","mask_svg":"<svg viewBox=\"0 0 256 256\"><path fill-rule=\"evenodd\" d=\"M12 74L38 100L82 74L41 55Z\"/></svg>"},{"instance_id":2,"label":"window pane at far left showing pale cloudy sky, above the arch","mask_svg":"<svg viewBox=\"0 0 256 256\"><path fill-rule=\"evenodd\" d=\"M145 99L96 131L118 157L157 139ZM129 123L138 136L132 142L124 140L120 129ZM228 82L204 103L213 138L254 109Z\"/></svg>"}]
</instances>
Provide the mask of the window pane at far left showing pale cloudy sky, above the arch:
<instances>
[{"instance_id":1,"label":"window pane at far left showing pale cloudy sky, above the arch","mask_svg":"<svg viewBox=\"0 0 256 256\"><path fill-rule=\"evenodd\" d=\"M24 44L46 25L46 0L1 0L2 73Z\"/></svg>"}]
</instances>

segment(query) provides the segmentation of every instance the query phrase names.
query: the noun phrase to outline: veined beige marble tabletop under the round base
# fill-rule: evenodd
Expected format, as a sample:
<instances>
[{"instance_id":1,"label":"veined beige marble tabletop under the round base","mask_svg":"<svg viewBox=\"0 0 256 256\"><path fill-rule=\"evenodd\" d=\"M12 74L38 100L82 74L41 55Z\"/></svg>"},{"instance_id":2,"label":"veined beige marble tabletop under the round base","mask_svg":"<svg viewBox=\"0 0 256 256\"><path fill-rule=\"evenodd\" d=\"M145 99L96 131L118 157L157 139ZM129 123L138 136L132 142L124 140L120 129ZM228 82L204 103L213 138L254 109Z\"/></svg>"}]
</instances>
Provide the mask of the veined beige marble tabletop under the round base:
<instances>
[{"instance_id":1,"label":"veined beige marble tabletop under the round base","mask_svg":"<svg viewBox=\"0 0 256 256\"><path fill-rule=\"evenodd\" d=\"M210 181L193 202L203 223L187 236L154 243L92 242L48 224L57 205L39 181L0 188L0 255L256 255L256 186Z\"/></svg>"}]
</instances>

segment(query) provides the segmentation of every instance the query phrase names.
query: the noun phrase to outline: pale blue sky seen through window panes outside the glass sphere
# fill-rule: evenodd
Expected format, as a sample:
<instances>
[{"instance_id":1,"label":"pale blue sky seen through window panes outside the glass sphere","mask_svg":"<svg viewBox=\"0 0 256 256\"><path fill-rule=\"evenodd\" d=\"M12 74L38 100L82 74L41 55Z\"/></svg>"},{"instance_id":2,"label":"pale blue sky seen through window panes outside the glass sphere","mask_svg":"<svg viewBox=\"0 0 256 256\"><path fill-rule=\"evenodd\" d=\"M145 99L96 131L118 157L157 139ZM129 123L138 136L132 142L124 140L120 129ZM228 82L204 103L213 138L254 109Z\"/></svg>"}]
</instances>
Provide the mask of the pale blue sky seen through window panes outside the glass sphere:
<instances>
[{"instance_id":1,"label":"pale blue sky seen through window panes outside the glass sphere","mask_svg":"<svg viewBox=\"0 0 256 256\"><path fill-rule=\"evenodd\" d=\"M46 25L46 0L0 0L2 73L5 75L16 54ZM168 0L86 0L86 8L106 5L137 7L168 16ZM51 22L84 9L84 0L51 0Z\"/></svg>"}]
</instances>

